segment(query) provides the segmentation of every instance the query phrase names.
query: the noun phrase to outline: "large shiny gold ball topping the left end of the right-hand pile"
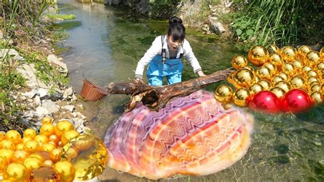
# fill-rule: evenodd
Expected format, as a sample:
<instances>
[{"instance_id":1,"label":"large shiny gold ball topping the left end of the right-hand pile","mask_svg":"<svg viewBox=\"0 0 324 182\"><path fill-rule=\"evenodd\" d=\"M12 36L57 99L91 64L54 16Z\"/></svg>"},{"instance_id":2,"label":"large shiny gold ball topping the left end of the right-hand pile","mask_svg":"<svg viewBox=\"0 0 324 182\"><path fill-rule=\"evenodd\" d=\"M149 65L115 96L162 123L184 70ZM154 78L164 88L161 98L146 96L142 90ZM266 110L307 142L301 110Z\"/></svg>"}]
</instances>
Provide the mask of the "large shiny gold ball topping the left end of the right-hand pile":
<instances>
[{"instance_id":1,"label":"large shiny gold ball topping the left end of the right-hand pile","mask_svg":"<svg viewBox=\"0 0 324 182\"><path fill-rule=\"evenodd\" d=\"M254 46L252 49L249 49L247 57L249 61L252 62L255 66L262 66L268 60L268 50L262 46Z\"/></svg>"}]
</instances>

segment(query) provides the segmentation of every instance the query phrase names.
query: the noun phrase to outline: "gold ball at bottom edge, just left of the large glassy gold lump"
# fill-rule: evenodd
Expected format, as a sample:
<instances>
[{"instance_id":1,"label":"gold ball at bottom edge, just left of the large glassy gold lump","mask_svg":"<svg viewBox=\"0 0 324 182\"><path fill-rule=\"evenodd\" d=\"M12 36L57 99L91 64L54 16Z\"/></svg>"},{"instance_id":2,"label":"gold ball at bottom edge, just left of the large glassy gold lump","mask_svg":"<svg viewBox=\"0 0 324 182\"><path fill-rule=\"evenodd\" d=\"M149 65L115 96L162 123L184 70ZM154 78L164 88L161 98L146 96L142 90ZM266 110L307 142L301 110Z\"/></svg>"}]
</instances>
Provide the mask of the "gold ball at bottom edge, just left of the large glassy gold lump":
<instances>
[{"instance_id":1,"label":"gold ball at bottom edge, just left of the large glassy gold lump","mask_svg":"<svg viewBox=\"0 0 324 182\"><path fill-rule=\"evenodd\" d=\"M57 161L53 168L59 173L62 181L73 181L75 179L75 166L70 161Z\"/></svg>"}]
</instances>

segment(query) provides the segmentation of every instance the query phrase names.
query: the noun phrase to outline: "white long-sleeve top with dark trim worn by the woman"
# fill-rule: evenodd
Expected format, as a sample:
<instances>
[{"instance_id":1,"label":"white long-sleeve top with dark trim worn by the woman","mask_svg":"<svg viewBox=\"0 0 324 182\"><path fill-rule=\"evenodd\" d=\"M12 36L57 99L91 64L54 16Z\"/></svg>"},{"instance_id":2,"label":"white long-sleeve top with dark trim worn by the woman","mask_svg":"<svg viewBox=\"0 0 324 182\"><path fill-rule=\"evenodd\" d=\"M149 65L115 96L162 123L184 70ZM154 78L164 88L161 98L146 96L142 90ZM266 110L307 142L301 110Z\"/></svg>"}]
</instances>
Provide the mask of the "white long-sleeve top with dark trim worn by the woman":
<instances>
[{"instance_id":1,"label":"white long-sleeve top with dark trim worn by the woman","mask_svg":"<svg viewBox=\"0 0 324 182\"><path fill-rule=\"evenodd\" d=\"M164 36L163 41L164 41L163 49L165 49L165 56L169 58L169 50L167 49L167 36ZM141 60L139 60L139 62L137 63L135 77L142 78L145 66L150 63L150 61L153 59L155 55L158 54L161 55L161 51L162 51L161 36L158 36L152 42L150 49L146 51L144 56L141 57ZM191 64L194 73L197 73L199 70L202 70L202 67L200 66L197 58L195 58L195 55L193 54L190 44L186 39L183 40L183 44L178 48L178 53L176 55L176 58L179 58L180 54L183 54L185 60L187 60Z\"/></svg>"}]
</instances>

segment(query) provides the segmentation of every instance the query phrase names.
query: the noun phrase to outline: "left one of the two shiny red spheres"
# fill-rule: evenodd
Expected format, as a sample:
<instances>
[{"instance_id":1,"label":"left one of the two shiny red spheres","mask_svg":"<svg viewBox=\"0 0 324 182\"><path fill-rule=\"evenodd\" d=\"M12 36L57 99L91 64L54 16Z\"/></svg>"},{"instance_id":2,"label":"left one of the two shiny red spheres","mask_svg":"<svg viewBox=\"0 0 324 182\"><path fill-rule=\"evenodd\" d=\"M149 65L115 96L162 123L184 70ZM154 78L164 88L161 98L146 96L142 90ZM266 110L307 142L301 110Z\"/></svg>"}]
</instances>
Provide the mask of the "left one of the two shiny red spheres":
<instances>
[{"instance_id":1,"label":"left one of the two shiny red spheres","mask_svg":"<svg viewBox=\"0 0 324 182\"><path fill-rule=\"evenodd\" d=\"M280 112L280 99L268 90L260 91L251 98L247 99L249 108L275 114Z\"/></svg>"}]
</instances>

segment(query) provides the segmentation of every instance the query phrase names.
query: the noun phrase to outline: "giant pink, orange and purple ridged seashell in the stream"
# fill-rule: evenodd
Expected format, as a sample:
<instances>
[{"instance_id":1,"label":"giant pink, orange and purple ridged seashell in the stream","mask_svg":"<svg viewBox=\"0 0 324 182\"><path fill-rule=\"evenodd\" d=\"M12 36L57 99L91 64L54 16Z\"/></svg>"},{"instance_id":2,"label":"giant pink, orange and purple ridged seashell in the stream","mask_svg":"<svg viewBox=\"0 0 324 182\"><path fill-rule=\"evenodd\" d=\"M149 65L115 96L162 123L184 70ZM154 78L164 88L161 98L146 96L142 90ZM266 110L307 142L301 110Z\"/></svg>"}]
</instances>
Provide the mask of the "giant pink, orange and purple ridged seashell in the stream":
<instances>
[{"instance_id":1,"label":"giant pink, orange and purple ridged seashell in the stream","mask_svg":"<svg viewBox=\"0 0 324 182\"><path fill-rule=\"evenodd\" d=\"M148 179L211 174L247 153L252 126L252 116L225 110L202 90L172 99L159 112L139 105L107 130L107 164Z\"/></svg>"}]
</instances>

